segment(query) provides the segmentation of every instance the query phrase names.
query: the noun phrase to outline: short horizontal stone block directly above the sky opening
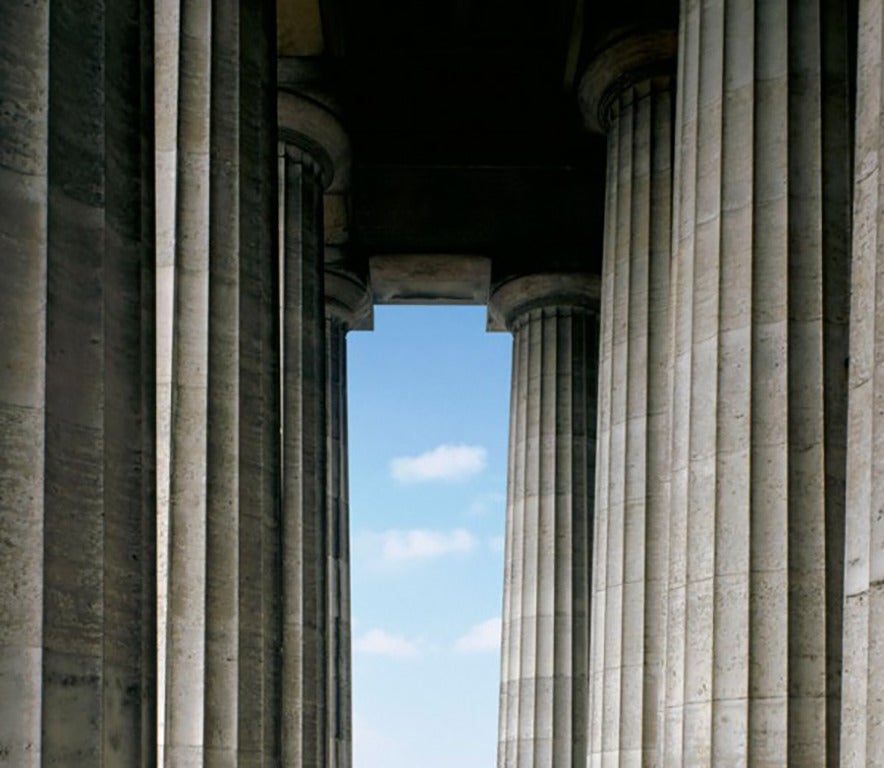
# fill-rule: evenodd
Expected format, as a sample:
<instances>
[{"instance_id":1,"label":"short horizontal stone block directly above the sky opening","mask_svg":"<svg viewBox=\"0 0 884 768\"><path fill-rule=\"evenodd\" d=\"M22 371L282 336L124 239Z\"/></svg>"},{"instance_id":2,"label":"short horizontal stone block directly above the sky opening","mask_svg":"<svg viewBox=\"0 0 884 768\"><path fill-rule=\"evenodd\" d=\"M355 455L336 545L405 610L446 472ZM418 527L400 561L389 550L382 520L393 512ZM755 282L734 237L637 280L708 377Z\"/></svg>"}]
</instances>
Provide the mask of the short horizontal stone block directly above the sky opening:
<instances>
[{"instance_id":1,"label":"short horizontal stone block directly above the sky opening","mask_svg":"<svg viewBox=\"0 0 884 768\"><path fill-rule=\"evenodd\" d=\"M376 304L485 304L491 259L469 254L396 254L369 259Z\"/></svg>"}]
</instances>

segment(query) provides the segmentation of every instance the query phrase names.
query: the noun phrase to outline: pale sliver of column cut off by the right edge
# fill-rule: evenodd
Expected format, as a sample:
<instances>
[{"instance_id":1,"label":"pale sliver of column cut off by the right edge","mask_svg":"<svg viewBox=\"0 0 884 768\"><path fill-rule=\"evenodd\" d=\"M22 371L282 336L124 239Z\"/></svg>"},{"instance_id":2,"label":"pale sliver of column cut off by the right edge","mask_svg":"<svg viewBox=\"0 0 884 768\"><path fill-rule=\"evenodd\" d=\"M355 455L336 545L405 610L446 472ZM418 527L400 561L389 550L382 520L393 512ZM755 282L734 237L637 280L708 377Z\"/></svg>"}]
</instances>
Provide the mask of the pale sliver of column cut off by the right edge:
<instances>
[{"instance_id":1,"label":"pale sliver of column cut off by the right edge","mask_svg":"<svg viewBox=\"0 0 884 768\"><path fill-rule=\"evenodd\" d=\"M860 2L850 313L844 768L884 765L884 10ZM878 374L882 373L879 379Z\"/></svg>"}]
</instances>

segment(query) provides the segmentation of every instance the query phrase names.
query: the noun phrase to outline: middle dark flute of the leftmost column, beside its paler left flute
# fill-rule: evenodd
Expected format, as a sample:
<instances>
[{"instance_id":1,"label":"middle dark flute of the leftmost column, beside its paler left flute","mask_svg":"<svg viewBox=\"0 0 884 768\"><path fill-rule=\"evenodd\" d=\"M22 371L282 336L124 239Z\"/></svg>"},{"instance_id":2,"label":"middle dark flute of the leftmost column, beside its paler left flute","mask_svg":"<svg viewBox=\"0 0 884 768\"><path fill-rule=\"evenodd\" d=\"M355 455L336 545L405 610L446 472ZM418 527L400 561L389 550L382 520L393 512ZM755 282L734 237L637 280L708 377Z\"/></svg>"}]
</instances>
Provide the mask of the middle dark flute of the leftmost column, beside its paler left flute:
<instances>
[{"instance_id":1,"label":"middle dark flute of the leftmost column, beside its paler left flute","mask_svg":"<svg viewBox=\"0 0 884 768\"><path fill-rule=\"evenodd\" d=\"M104 23L98 7L53 7L49 17L45 763L98 765L103 749ZM66 709L62 726L53 713Z\"/></svg>"}]
</instances>

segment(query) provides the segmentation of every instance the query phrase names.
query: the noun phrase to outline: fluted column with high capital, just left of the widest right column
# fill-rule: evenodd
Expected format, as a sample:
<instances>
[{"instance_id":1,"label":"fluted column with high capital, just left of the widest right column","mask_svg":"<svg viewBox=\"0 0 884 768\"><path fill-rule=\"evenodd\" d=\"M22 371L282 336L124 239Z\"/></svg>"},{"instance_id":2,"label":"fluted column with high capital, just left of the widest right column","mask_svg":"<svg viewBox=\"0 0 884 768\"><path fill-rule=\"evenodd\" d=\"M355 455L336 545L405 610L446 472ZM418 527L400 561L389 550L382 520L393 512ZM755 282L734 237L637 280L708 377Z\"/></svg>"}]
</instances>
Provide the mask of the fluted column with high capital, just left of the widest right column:
<instances>
[{"instance_id":1,"label":"fluted column with high capital, just left of the widest right column","mask_svg":"<svg viewBox=\"0 0 884 768\"><path fill-rule=\"evenodd\" d=\"M669 541L674 32L601 51L581 83L608 134L596 465L590 764L658 766Z\"/></svg>"}]
</instances>

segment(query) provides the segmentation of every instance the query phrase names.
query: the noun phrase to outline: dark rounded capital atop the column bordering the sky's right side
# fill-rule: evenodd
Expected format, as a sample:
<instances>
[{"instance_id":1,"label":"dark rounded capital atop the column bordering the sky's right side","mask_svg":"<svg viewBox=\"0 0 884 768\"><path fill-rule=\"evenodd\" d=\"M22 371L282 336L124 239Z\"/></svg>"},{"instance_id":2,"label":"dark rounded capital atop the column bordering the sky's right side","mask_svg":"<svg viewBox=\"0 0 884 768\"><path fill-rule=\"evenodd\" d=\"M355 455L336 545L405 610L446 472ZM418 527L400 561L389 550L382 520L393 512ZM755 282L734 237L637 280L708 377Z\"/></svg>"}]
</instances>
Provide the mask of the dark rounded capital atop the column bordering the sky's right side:
<instances>
[{"instance_id":1,"label":"dark rounded capital atop the column bordering the sky's right side","mask_svg":"<svg viewBox=\"0 0 884 768\"><path fill-rule=\"evenodd\" d=\"M597 310L601 280L587 272L523 275L498 285L488 300L488 330L512 330L519 316L543 307Z\"/></svg>"}]
</instances>

